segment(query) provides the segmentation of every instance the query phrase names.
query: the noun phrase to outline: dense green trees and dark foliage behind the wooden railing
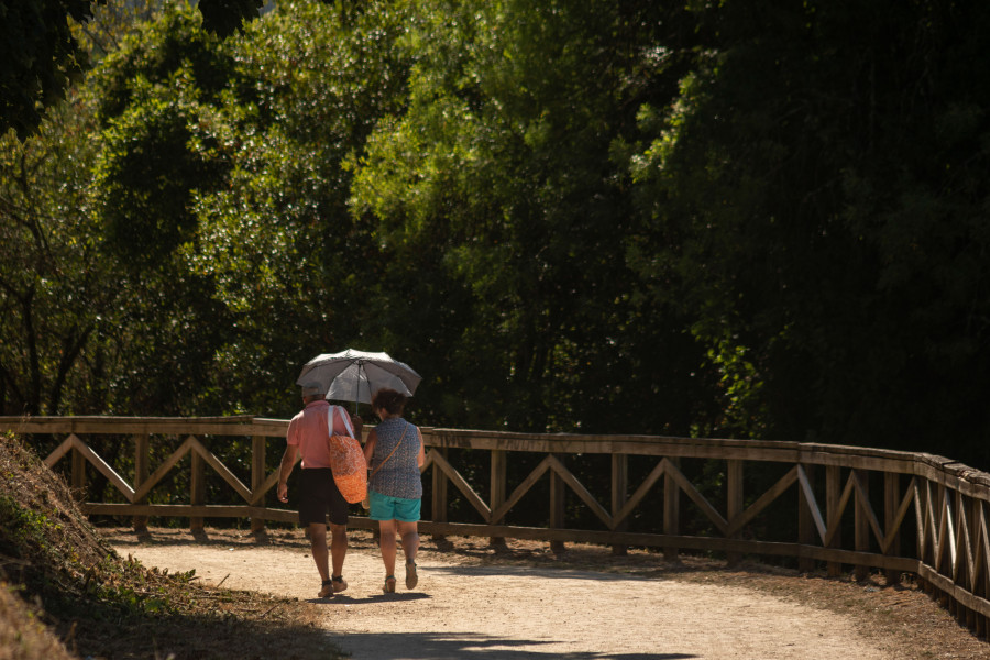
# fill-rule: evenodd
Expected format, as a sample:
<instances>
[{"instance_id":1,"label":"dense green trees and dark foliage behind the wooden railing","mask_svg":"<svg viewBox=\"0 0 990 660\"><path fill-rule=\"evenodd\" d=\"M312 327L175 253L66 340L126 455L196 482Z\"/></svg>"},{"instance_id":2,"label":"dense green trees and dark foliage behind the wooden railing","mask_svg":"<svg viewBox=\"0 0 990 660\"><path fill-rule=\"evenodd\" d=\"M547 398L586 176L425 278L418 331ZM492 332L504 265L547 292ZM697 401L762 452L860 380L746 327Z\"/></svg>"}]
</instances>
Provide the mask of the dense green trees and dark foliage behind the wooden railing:
<instances>
[{"instance_id":1,"label":"dense green trees and dark foliage behind the wooden railing","mask_svg":"<svg viewBox=\"0 0 990 660\"><path fill-rule=\"evenodd\" d=\"M990 466L982 3L207 9L4 139L4 414L285 417L353 346L424 424Z\"/></svg>"}]
</instances>

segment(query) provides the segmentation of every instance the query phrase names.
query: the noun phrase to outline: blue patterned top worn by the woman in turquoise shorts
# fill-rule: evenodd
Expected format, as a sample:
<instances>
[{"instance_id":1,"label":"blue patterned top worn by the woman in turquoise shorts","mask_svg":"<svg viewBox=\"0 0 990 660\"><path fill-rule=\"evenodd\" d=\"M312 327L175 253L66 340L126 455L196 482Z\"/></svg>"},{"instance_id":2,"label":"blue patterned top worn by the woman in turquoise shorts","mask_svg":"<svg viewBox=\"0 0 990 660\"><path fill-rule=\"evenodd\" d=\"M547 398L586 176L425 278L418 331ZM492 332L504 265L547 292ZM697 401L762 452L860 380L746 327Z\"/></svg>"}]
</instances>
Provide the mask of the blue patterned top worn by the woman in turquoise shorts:
<instances>
[{"instance_id":1,"label":"blue patterned top worn by the woman in turquoise shorts","mask_svg":"<svg viewBox=\"0 0 990 660\"><path fill-rule=\"evenodd\" d=\"M403 437L405 431L405 437ZM372 457L372 470L392 453L399 442L402 444L392 453L392 458L382 465L371 479L367 487L382 495L419 499L422 497L422 477L416 459L419 457L419 433L415 426L402 417L386 419L375 427L375 454Z\"/></svg>"}]
</instances>

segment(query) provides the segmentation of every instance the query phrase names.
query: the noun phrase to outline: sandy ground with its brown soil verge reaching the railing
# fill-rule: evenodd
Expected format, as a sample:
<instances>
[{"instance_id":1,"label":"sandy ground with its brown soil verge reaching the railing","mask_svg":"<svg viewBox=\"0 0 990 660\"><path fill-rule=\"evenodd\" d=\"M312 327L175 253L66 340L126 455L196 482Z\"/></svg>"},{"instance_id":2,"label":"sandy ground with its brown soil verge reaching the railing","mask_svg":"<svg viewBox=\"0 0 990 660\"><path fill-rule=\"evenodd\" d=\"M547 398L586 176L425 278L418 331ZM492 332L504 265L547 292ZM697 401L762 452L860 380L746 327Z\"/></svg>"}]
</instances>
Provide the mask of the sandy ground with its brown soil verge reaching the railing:
<instances>
[{"instance_id":1,"label":"sandy ground with its brown soil verge reaching the railing","mask_svg":"<svg viewBox=\"0 0 990 660\"><path fill-rule=\"evenodd\" d=\"M857 583L747 564L607 548L424 536L419 585L384 594L371 534L351 531L349 588L319 600L299 530L105 530L146 566L196 570L208 584L318 604L327 635L355 659L485 660L990 658L910 582ZM402 554L399 554L402 557Z\"/></svg>"}]
</instances>

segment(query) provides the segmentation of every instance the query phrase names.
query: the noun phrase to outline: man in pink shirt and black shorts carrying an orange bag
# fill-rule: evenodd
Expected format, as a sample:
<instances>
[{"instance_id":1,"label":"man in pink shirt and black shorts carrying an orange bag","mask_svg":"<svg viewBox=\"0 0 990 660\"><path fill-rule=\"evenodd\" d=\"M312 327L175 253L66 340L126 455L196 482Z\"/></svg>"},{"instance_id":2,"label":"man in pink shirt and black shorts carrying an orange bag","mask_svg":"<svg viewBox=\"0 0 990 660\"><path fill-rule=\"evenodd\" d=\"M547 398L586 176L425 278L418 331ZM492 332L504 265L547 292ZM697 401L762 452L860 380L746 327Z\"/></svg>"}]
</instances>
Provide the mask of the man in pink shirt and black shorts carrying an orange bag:
<instances>
[{"instance_id":1,"label":"man in pink shirt and black shorts carrying an orange bag","mask_svg":"<svg viewBox=\"0 0 990 660\"><path fill-rule=\"evenodd\" d=\"M330 469L330 429L332 415L333 435L353 436L361 440L361 418L356 419L356 435L351 432L351 416L340 406L330 406L326 388L319 383L302 386L304 408L289 422L285 453L278 469L278 499L288 502L288 476L296 459L301 454L302 470L299 481L299 525L309 528L312 559L322 579L319 597L340 593L348 588L343 579L343 561L348 553L348 502L333 482ZM334 414L336 413L336 414ZM330 559L333 573L329 572L327 552L327 514L330 514Z\"/></svg>"}]
</instances>

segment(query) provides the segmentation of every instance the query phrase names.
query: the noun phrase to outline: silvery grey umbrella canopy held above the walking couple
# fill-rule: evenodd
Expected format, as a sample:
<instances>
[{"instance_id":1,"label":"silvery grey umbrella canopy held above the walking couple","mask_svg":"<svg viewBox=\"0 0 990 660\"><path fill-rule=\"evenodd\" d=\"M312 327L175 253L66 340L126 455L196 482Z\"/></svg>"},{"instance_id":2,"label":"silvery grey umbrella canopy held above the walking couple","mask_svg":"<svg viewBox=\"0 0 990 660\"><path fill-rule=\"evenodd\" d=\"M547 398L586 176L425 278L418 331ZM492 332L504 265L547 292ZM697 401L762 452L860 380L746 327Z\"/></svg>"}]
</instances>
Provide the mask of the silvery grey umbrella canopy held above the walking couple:
<instances>
[{"instance_id":1,"label":"silvery grey umbrella canopy held above the walking couple","mask_svg":"<svg viewBox=\"0 0 990 660\"><path fill-rule=\"evenodd\" d=\"M328 399L370 404L372 395L383 387L413 396L420 381L422 376L411 366L393 360L388 353L346 349L307 362L296 384L320 383Z\"/></svg>"}]
</instances>

